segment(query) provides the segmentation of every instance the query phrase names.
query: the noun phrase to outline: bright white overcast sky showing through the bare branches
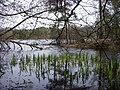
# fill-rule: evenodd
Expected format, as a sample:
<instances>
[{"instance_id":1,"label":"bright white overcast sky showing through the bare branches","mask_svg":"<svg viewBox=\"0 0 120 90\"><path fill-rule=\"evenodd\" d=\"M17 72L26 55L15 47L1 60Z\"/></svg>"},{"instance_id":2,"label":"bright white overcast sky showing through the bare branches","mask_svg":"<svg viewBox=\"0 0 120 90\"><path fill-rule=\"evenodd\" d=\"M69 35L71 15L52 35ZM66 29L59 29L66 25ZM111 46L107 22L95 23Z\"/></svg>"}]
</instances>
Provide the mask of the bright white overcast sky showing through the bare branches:
<instances>
[{"instance_id":1,"label":"bright white overcast sky showing through the bare branches","mask_svg":"<svg viewBox=\"0 0 120 90\"><path fill-rule=\"evenodd\" d=\"M11 2L12 1L14 1L14 0L11 0ZM39 7L38 11L40 11L40 10L42 11L45 8L42 5L42 2L40 2L41 0L17 0L17 1L20 1L19 5L23 5L26 8L37 5L37 3L41 3L41 6ZM80 5L75 9L77 18L79 20L78 21L74 20L72 22L78 26L81 24L83 26L87 25L87 24L92 25L97 18L96 12L98 11L98 9L97 9L98 4L97 4L97 2L93 2L93 0L83 0L83 1L84 2L81 2ZM37 3L33 4L33 2L37 2ZM74 6L75 5L73 5L73 7ZM35 10L34 12L36 13L37 10ZM9 13L16 13L16 11L10 9ZM44 13L41 15L41 17L48 17L50 19L55 18L54 14L49 14L49 13ZM25 18L26 17L23 15L7 17L7 19L4 20L4 23L2 25L3 25L3 27L13 27ZM86 24L86 22L87 22L87 24ZM42 26L49 27L51 24L54 24L54 22L51 20L30 18L30 19L26 20L24 23L22 23L21 25L19 25L17 27L17 29L21 29L21 28L30 29L30 28L37 28L37 27L42 27Z\"/></svg>"}]
</instances>

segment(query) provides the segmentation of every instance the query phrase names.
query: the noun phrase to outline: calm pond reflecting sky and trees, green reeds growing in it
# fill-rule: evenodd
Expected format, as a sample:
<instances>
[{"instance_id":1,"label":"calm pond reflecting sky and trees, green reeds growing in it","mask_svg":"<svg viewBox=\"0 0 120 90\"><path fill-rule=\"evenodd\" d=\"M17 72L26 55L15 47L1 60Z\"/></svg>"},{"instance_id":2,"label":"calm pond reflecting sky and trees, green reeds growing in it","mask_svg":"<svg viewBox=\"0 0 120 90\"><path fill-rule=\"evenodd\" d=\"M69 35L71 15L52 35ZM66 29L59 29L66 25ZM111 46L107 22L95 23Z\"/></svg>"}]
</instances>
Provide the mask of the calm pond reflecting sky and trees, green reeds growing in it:
<instances>
[{"instance_id":1,"label":"calm pond reflecting sky and trees, green reeds growing in it","mask_svg":"<svg viewBox=\"0 0 120 90\"><path fill-rule=\"evenodd\" d=\"M120 89L119 53L100 57L93 49L47 45L51 41L21 41L42 50L10 43L11 50L0 53L0 90Z\"/></svg>"}]
</instances>

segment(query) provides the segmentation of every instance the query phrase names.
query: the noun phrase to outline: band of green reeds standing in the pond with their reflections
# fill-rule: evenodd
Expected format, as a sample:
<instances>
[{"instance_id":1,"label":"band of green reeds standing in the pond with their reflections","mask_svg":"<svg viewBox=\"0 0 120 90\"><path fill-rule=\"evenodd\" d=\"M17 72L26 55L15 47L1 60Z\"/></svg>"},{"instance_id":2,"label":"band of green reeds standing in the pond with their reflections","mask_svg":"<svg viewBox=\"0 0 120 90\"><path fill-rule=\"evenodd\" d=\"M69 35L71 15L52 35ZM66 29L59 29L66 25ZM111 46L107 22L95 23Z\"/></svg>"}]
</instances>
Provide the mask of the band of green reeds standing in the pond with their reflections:
<instances>
[{"instance_id":1,"label":"band of green reeds standing in the pond with their reflections","mask_svg":"<svg viewBox=\"0 0 120 90\"><path fill-rule=\"evenodd\" d=\"M100 59L99 56L88 53L74 55L70 53L60 55L33 54L32 57L26 54L21 56L20 62L13 55L10 66L15 67L19 63L22 72L35 73L39 81L41 78L47 78L52 88L62 86L64 89L71 89L75 84L78 87L86 87L89 79L94 82L94 79L91 78L91 75L94 74L101 76L102 85L104 85L104 79L107 80L105 88L118 90L120 88L120 60L111 59L105 63L104 61L103 58ZM101 74L100 70L102 70ZM51 80L51 78L53 79ZM90 86L92 86L91 83Z\"/></svg>"}]
</instances>

